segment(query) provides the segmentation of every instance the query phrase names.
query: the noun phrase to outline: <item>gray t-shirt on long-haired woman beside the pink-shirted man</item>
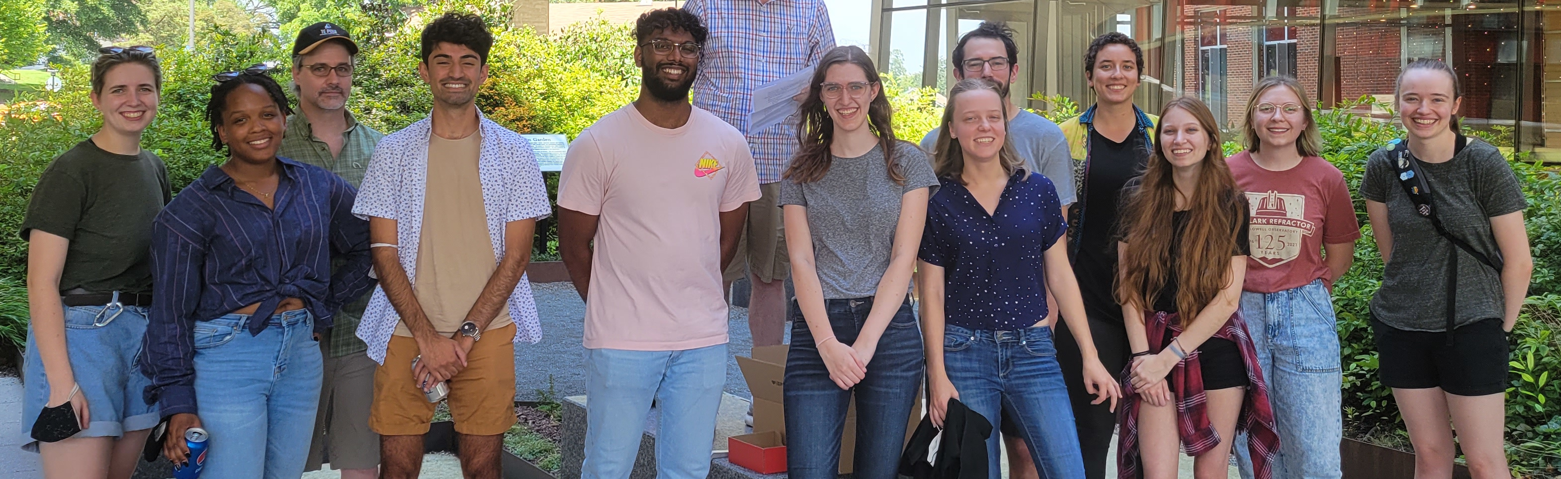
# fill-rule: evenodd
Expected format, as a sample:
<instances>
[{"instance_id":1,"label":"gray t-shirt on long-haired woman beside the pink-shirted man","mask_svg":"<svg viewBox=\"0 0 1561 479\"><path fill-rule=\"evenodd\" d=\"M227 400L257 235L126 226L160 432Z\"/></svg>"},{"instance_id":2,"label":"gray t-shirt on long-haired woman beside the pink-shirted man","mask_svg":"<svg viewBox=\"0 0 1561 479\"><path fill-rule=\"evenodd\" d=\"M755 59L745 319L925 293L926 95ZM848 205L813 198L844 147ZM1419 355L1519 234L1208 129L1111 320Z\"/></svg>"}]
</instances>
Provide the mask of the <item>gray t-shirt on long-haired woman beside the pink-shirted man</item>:
<instances>
[{"instance_id":1,"label":"gray t-shirt on long-haired woman beside the pink-shirted man","mask_svg":"<svg viewBox=\"0 0 1561 479\"><path fill-rule=\"evenodd\" d=\"M894 162L905 184L888 178L882 147L857 158L834 156L829 173L815 183L780 179L780 206L807 208L813 262L818 282L824 286L824 300L876 295L879 279L888 270L901 197L938 186L932 162L916 145L898 142Z\"/></svg>"}]
</instances>

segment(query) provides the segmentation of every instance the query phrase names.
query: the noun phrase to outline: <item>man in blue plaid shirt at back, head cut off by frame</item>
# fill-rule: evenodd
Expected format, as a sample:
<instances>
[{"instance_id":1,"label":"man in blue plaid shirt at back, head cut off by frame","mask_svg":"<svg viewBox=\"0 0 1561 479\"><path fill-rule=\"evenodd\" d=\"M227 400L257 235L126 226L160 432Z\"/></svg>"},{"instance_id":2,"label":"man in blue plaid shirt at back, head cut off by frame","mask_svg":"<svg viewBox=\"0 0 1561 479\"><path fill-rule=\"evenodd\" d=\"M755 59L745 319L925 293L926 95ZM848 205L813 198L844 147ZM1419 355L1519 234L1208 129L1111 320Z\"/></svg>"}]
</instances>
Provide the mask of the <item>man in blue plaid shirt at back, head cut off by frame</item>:
<instances>
[{"instance_id":1,"label":"man in blue plaid shirt at back, head cut off by frame","mask_svg":"<svg viewBox=\"0 0 1561 479\"><path fill-rule=\"evenodd\" d=\"M796 151L796 123L752 131L748 112L754 89L809 66L835 47L824 0L688 0L684 9L699 16L710 31L693 83L693 105L732 123L748 137L763 197L748 208L748 225L726 282L752 284L748 328L754 346L779 345L785 329L785 229L780 225L780 172Z\"/></svg>"}]
</instances>

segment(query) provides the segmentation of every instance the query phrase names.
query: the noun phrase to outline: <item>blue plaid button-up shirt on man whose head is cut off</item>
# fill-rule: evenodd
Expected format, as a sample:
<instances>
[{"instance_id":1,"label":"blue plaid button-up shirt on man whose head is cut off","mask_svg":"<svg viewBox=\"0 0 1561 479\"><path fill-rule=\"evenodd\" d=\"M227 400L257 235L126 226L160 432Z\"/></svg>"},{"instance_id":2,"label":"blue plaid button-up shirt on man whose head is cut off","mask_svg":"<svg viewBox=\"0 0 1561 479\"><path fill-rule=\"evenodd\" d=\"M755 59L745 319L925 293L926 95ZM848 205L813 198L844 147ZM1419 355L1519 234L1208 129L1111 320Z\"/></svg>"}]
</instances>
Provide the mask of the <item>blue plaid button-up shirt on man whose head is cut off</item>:
<instances>
[{"instance_id":1,"label":"blue plaid button-up shirt on man whose head is cut off","mask_svg":"<svg viewBox=\"0 0 1561 479\"><path fill-rule=\"evenodd\" d=\"M748 130L754 89L818 64L835 47L824 0L688 0L709 36L693 105L737 126L754 153L759 183L780 181L796 151L796 123Z\"/></svg>"}]
</instances>

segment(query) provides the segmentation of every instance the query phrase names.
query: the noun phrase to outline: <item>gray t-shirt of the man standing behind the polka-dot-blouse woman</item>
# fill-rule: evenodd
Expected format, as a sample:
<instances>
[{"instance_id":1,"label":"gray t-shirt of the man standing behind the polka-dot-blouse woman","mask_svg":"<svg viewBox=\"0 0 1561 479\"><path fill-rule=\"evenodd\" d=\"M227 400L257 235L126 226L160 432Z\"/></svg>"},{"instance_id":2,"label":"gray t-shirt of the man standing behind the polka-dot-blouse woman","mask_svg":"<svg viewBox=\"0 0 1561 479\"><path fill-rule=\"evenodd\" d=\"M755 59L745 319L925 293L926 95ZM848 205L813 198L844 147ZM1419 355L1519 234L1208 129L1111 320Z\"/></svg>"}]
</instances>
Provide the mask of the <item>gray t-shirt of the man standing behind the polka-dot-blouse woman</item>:
<instances>
[{"instance_id":1,"label":"gray t-shirt of the man standing behind the polka-dot-blouse woman","mask_svg":"<svg viewBox=\"0 0 1561 479\"><path fill-rule=\"evenodd\" d=\"M921 150L932 151L932 147L938 144L938 130L941 128L927 131L927 136L921 139ZM1024 158L1024 164L1032 173L1046 175L1046 179L1057 186L1057 200L1063 206L1079 201L1079 192L1074 190L1072 158L1068 154L1068 137L1063 136L1061 128L1057 128L1057 123L1030 111L1019 111L1013 122L1008 122L1008 144L1013 145L1013 153Z\"/></svg>"}]
</instances>

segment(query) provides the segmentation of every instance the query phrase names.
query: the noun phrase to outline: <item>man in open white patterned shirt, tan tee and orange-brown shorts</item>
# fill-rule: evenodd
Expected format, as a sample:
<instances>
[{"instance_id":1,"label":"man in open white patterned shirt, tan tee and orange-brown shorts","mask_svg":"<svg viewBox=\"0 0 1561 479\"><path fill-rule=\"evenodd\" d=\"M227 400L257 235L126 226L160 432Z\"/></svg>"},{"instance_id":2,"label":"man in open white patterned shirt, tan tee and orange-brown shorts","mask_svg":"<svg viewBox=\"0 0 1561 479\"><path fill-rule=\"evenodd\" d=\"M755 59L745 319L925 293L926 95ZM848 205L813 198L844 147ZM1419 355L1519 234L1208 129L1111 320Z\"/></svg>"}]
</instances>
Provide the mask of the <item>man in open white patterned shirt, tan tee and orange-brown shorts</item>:
<instances>
[{"instance_id":1,"label":"man in open white patterned shirt, tan tee and orange-brown shorts","mask_svg":"<svg viewBox=\"0 0 1561 479\"><path fill-rule=\"evenodd\" d=\"M379 142L353 206L379 278L357 337L379 362L368 426L387 479L418 476L442 382L465 477L496 479L515 424L512 343L542 339L524 271L553 211L531 145L473 103L492 45L473 14L423 28L434 111Z\"/></svg>"}]
</instances>

